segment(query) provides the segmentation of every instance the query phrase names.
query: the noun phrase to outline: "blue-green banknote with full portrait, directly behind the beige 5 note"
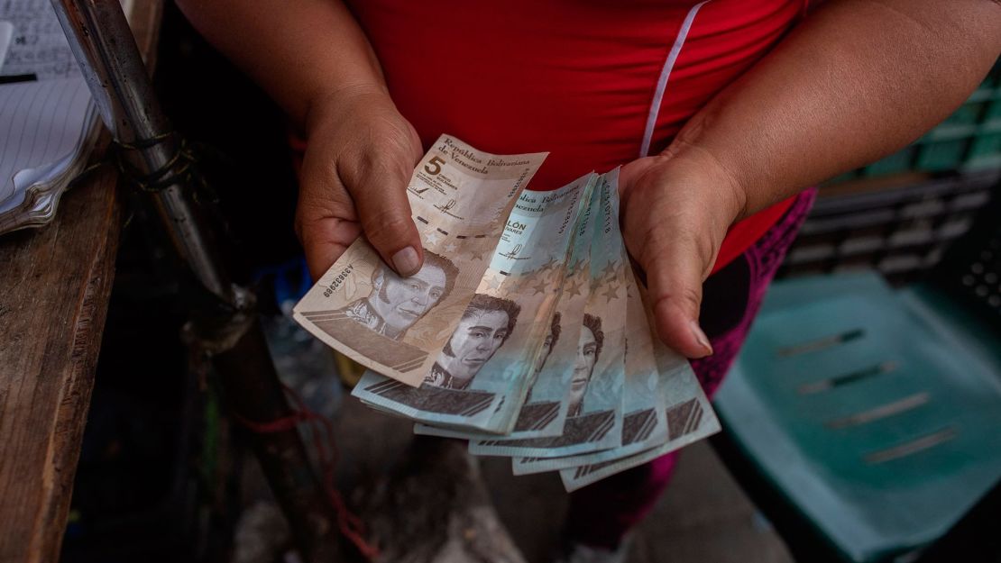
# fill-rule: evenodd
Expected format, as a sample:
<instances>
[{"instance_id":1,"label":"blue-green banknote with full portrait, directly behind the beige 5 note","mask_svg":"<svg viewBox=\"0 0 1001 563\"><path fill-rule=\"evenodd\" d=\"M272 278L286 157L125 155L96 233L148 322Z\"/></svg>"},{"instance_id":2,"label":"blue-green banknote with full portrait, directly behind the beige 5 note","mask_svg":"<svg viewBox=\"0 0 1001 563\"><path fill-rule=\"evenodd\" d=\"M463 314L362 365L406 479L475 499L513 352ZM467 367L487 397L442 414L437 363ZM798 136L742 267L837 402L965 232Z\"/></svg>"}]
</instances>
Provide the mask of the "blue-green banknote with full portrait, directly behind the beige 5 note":
<instances>
[{"instance_id":1,"label":"blue-green banknote with full portrait, directly behind the beige 5 note","mask_svg":"<svg viewBox=\"0 0 1001 563\"><path fill-rule=\"evenodd\" d=\"M475 295L418 388L369 370L352 394L435 425L510 432L552 327L593 181L522 193Z\"/></svg>"}]
</instances>

